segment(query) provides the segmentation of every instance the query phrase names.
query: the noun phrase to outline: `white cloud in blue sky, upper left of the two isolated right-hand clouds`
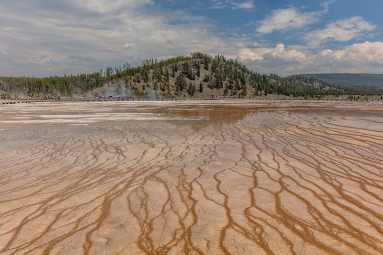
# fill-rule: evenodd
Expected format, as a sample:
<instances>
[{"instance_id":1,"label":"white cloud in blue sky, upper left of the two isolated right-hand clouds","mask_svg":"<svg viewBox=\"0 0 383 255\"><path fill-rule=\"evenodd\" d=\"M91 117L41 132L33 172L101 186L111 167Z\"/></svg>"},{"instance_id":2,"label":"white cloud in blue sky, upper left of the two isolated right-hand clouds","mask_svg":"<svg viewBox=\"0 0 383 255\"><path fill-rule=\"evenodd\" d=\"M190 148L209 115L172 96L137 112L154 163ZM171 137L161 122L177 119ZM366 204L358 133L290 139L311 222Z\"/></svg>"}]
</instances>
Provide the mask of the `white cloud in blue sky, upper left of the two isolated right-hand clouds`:
<instances>
[{"instance_id":1,"label":"white cloud in blue sky, upper left of the two isolated right-hand clouds","mask_svg":"<svg viewBox=\"0 0 383 255\"><path fill-rule=\"evenodd\" d=\"M318 21L319 12L302 13L297 8L277 9L263 21L257 28L262 34L271 34L273 31L303 28Z\"/></svg>"}]
</instances>

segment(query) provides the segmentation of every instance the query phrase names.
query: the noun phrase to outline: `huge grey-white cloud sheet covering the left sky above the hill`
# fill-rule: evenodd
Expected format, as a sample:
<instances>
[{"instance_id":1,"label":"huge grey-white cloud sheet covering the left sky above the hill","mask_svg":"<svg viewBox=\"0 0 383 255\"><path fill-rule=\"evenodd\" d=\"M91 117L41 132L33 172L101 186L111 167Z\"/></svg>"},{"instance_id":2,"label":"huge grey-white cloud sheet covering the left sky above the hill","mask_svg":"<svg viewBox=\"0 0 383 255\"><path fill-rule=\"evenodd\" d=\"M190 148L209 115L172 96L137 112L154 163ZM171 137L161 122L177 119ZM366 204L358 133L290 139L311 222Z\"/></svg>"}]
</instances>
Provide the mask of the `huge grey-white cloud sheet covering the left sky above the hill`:
<instances>
[{"instance_id":1,"label":"huge grey-white cloud sheet covering the left sky above the hill","mask_svg":"<svg viewBox=\"0 0 383 255\"><path fill-rule=\"evenodd\" d=\"M95 15L88 13L94 7L71 12L57 7L20 10L12 3L0 3L6 21L0 25L0 76L92 73L125 61L135 66L145 58L193 51L235 56L238 48L233 45L244 42L217 35L204 17L179 11L137 7Z\"/></svg>"}]
</instances>

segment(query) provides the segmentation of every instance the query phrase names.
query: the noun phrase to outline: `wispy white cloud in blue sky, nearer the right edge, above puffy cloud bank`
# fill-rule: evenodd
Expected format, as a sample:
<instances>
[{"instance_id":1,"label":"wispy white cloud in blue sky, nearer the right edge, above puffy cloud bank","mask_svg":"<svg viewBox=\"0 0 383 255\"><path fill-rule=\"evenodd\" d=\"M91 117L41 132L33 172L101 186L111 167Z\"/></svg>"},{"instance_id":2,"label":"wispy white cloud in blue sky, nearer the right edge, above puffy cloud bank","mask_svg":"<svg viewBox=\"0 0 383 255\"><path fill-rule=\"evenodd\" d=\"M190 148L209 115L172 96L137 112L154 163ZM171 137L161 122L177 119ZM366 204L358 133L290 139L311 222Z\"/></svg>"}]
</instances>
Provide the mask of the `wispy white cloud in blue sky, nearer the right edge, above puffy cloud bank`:
<instances>
[{"instance_id":1,"label":"wispy white cloud in blue sky, nearer the right edge, above puffy cloud bank","mask_svg":"<svg viewBox=\"0 0 383 255\"><path fill-rule=\"evenodd\" d=\"M312 46L317 46L329 40L346 42L375 28L376 26L371 22L365 21L360 16L355 16L329 23L324 29L308 33L305 39L310 41Z\"/></svg>"}]
</instances>

